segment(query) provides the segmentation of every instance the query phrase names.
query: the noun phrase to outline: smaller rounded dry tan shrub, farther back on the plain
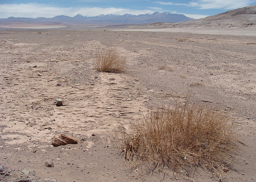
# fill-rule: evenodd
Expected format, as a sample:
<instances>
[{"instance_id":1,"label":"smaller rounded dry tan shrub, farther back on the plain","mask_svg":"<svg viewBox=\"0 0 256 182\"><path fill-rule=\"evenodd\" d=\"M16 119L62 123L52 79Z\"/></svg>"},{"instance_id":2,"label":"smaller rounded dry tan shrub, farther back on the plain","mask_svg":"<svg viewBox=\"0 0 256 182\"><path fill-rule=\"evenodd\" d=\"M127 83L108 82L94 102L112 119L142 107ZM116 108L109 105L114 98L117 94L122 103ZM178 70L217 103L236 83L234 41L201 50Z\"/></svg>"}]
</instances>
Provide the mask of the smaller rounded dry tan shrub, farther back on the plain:
<instances>
[{"instance_id":1,"label":"smaller rounded dry tan shrub, farther back on the plain","mask_svg":"<svg viewBox=\"0 0 256 182\"><path fill-rule=\"evenodd\" d=\"M94 60L94 68L102 72L123 72L125 70L125 59L115 50L99 52Z\"/></svg>"}]
</instances>

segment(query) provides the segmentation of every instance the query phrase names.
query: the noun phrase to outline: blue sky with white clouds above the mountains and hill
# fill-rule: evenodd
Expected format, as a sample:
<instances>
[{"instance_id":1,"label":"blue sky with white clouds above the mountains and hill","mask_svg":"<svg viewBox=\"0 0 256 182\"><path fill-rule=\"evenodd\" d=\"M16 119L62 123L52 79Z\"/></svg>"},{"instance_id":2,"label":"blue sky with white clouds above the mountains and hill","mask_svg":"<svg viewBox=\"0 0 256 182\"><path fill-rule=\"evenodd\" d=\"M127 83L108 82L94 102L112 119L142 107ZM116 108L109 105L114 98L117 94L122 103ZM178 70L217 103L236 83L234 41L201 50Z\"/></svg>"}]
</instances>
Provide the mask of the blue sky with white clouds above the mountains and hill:
<instances>
[{"instance_id":1,"label":"blue sky with white clouds above the mountains and hill","mask_svg":"<svg viewBox=\"0 0 256 182\"><path fill-rule=\"evenodd\" d=\"M199 19L253 4L256 0L0 0L0 18L139 15L159 11Z\"/></svg>"}]
</instances>

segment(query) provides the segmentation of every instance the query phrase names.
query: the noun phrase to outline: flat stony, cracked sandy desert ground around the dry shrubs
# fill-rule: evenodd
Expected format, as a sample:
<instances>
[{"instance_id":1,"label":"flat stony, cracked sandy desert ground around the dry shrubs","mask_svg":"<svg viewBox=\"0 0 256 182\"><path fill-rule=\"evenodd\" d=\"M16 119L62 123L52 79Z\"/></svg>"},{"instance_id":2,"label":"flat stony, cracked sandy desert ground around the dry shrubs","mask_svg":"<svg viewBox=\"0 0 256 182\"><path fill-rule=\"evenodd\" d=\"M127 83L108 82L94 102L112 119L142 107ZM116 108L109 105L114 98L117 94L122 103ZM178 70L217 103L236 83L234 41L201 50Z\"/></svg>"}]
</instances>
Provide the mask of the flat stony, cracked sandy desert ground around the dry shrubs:
<instances>
[{"instance_id":1,"label":"flat stony, cracked sandy desert ground around the dry shrubs","mask_svg":"<svg viewBox=\"0 0 256 182\"><path fill-rule=\"evenodd\" d=\"M110 134L120 124L128 129L151 106L188 96L230 111L244 143L223 181L255 181L255 36L31 29L1 30L0 41L0 165L11 174L1 181L187 181L137 178ZM125 73L94 70L95 53L108 48L126 57ZM53 147L58 134L80 142Z\"/></svg>"}]
</instances>

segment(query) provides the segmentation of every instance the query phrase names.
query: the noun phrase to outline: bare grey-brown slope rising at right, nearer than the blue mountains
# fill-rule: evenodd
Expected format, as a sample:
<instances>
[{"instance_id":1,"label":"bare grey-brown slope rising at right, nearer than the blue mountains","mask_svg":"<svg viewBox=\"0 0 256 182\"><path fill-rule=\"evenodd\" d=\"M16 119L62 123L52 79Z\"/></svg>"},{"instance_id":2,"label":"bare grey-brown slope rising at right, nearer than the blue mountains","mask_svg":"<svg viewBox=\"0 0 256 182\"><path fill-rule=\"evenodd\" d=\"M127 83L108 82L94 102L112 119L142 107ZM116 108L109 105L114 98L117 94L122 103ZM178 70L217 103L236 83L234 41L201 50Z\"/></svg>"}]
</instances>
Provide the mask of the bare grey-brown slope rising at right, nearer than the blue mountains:
<instances>
[{"instance_id":1,"label":"bare grey-brown slope rising at right, nearer than the blue mountains","mask_svg":"<svg viewBox=\"0 0 256 182\"><path fill-rule=\"evenodd\" d=\"M256 28L256 4L230 10L221 14L208 16L202 19L197 19L181 23L157 23L146 26L166 27L166 28L189 28L189 27L204 27L204 28Z\"/></svg>"}]
</instances>

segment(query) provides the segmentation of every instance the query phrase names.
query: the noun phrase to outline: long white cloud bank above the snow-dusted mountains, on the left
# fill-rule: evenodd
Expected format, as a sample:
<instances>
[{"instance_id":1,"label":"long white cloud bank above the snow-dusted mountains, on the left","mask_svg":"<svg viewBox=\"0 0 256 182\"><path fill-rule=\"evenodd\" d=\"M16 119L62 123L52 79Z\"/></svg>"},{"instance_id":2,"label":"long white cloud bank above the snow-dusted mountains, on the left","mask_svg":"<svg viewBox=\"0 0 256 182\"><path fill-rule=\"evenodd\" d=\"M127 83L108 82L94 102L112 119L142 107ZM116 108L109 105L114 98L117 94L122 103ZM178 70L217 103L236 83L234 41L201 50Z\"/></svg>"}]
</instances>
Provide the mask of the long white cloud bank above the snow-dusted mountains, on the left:
<instances>
[{"instance_id":1,"label":"long white cloud bank above the snow-dusted mountains, on the left","mask_svg":"<svg viewBox=\"0 0 256 182\"><path fill-rule=\"evenodd\" d=\"M126 13L139 15L146 13L154 13L152 10L129 10L116 7L54 7L40 3L27 3L27 4L0 4L0 18L13 17L45 17L52 18L57 15L75 16L81 14L83 16L98 16L100 14L120 14Z\"/></svg>"}]
</instances>

